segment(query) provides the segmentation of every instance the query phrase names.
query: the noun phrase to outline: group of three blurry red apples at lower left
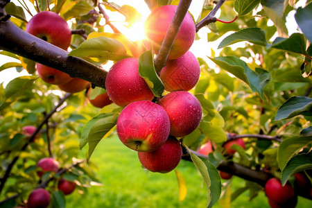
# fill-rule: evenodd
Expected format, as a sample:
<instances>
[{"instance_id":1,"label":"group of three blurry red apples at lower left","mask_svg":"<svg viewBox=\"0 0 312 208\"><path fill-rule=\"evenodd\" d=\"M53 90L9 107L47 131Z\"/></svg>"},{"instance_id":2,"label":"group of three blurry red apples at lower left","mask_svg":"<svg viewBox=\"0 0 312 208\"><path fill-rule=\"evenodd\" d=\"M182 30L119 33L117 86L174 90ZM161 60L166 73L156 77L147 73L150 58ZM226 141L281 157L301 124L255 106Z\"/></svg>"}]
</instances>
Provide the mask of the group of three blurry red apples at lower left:
<instances>
[{"instance_id":1,"label":"group of three blurry red apples at lower left","mask_svg":"<svg viewBox=\"0 0 312 208\"><path fill-rule=\"evenodd\" d=\"M44 157L37 162L37 167L40 171L37 171L37 175L42 177L44 173L54 172L58 173L60 164L52 157ZM69 195L76 188L76 183L69 180L61 178L58 180L58 190L62 191L64 195ZM28 201L26 207L28 208L38 208L38 207L48 207L51 202L51 195L49 191L43 188L37 188L31 192L28 196Z\"/></svg>"}]
</instances>

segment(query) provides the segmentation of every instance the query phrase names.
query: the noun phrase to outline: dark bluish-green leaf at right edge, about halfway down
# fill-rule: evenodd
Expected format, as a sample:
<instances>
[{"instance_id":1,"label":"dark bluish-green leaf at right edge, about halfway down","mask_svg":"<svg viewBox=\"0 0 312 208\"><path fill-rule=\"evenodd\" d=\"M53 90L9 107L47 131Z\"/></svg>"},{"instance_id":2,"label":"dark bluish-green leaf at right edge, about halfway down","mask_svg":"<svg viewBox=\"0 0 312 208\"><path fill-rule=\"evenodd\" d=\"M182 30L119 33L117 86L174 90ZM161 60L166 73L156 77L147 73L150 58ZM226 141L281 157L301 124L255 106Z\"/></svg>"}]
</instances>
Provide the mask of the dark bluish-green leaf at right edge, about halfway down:
<instances>
[{"instance_id":1,"label":"dark bluish-green leaf at right edge, about halfway down","mask_svg":"<svg viewBox=\"0 0 312 208\"><path fill-rule=\"evenodd\" d=\"M290 119L300 114L312 113L312 98L306 96L294 96L289 98L279 107L275 116L275 121Z\"/></svg>"}]
</instances>

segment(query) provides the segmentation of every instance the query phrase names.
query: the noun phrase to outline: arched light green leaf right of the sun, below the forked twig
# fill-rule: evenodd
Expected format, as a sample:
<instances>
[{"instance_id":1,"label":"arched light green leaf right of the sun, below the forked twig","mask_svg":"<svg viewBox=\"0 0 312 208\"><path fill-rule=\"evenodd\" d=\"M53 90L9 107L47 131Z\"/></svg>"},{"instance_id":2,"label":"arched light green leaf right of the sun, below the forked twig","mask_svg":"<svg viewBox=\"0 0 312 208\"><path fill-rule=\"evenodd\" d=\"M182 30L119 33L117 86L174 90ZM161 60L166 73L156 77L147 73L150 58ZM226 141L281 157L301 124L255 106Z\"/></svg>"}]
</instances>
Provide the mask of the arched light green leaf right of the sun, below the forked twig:
<instances>
[{"instance_id":1,"label":"arched light green leaf right of the sun, below the forked twig","mask_svg":"<svg viewBox=\"0 0 312 208\"><path fill-rule=\"evenodd\" d=\"M218 49L242 41L248 41L259 46L266 46L268 44L266 41L266 33L261 30L261 28L245 28L225 37L225 39L220 42Z\"/></svg>"}]
</instances>

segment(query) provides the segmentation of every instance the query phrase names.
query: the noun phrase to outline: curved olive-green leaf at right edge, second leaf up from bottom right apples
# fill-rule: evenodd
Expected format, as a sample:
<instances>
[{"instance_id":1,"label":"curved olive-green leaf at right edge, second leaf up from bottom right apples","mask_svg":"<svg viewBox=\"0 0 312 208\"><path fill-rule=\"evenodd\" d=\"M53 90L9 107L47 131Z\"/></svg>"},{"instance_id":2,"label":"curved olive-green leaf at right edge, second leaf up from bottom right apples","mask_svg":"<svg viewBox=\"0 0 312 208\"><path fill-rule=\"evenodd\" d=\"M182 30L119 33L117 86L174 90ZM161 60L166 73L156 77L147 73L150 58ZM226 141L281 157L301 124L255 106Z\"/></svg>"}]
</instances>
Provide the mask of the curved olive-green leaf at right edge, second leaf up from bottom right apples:
<instances>
[{"instance_id":1,"label":"curved olive-green leaf at right edge, second leaf up from bottom right apples","mask_svg":"<svg viewBox=\"0 0 312 208\"><path fill-rule=\"evenodd\" d=\"M291 137L281 142L277 152L277 161L279 163L279 168L281 169L281 171L284 170L286 164L291 159L291 157L293 157L293 155L297 154L300 149L311 143L311 136Z\"/></svg>"}]
</instances>

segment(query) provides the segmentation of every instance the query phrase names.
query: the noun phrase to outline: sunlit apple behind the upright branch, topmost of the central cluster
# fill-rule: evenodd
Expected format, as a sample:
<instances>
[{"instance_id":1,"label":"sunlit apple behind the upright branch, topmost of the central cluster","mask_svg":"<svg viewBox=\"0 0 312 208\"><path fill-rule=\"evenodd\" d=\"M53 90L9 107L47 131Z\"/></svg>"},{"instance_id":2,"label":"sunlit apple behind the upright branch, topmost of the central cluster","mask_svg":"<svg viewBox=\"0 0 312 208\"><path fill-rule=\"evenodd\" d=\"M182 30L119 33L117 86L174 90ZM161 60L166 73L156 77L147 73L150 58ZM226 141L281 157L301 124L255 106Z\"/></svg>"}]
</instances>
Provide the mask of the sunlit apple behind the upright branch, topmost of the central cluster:
<instances>
[{"instance_id":1,"label":"sunlit apple behind the upright branch, topmost of the central cluster","mask_svg":"<svg viewBox=\"0 0 312 208\"><path fill-rule=\"evenodd\" d=\"M148 16L145 22L145 34L152 43L153 50L158 54L160 46L166 36L166 32L171 24L177 6L161 6ZM187 12L180 26L180 30L175 37L175 41L169 53L169 59L177 59L189 51L195 40L195 23L193 17Z\"/></svg>"}]
</instances>

